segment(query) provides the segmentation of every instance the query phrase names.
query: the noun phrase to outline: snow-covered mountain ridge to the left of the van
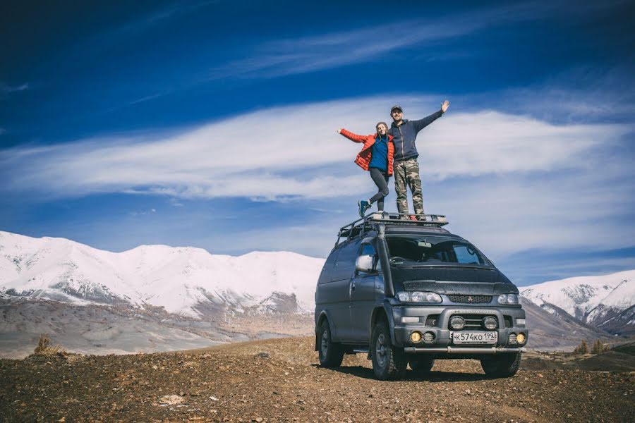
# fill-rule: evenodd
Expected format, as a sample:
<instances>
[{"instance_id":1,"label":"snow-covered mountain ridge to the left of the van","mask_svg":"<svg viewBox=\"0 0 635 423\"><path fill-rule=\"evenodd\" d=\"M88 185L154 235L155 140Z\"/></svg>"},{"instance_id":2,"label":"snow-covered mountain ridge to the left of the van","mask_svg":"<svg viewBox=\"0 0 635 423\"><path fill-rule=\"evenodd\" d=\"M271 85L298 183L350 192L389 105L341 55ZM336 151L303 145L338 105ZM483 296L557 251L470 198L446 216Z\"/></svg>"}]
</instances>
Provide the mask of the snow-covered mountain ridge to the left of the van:
<instances>
[{"instance_id":1,"label":"snow-covered mountain ridge to the left of the van","mask_svg":"<svg viewBox=\"0 0 635 423\"><path fill-rule=\"evenodd\" d=\"M312 312L322 264L293 252L232 257L166 245L116 253L0 231L0 295L164 307L193 318L223 310Z\"/></svg>"}]
</instances>

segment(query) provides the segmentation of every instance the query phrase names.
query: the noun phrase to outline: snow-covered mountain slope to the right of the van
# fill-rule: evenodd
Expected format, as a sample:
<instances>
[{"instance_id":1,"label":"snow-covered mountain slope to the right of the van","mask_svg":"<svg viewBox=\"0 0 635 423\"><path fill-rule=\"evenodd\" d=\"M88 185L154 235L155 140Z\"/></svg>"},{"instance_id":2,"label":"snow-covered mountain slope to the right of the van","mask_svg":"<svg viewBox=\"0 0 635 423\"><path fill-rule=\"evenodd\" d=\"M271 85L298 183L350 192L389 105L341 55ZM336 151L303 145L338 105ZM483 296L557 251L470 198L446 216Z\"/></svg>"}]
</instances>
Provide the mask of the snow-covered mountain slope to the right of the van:
<instances>
[{"instance_id":1,"label":"snow-covered mountain slope to the right of the van","mask_svg":"<svg viewBox=\"0 0 635 423\"><path fill-rule=\"evenodd\" d=\"M552 314L564 312L612 333L635 331L635 270L548 281L519 290Z\"/></svg>"}]
</instances>

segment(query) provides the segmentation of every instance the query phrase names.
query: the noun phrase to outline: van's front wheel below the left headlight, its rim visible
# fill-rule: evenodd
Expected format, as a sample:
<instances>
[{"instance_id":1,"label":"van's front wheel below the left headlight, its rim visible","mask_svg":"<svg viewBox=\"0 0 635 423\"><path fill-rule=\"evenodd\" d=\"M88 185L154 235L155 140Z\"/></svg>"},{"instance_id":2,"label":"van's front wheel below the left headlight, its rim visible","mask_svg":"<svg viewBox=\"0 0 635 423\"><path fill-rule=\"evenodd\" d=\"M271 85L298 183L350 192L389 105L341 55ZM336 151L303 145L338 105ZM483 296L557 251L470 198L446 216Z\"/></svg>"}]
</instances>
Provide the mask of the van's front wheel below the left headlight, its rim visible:
<instances>
[{"instance_id":1,"label":"van's front wheel below the left headlight, its rim visible","mask_svg":"<svg viewBox=\"0 0 635 423\"><path fill-rule=\"evenodd\" d=\"M406 354L401 348L392 345L390 329L385 321L380 321L373 328L370 355L373 359L373 372L377 379L385 381L404 376L408 366Z\"/></svg>"}]
</instances>

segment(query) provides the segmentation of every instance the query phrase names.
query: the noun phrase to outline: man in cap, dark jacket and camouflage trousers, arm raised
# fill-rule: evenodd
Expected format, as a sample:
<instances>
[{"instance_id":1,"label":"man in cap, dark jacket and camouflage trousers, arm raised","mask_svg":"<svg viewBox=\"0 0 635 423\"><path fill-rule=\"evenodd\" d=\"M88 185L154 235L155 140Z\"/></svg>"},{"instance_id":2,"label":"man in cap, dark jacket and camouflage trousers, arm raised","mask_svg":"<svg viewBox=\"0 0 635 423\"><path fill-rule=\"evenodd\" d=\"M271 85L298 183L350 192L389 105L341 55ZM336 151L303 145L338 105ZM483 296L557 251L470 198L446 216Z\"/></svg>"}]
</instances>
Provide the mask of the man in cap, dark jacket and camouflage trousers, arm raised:
<instances>
[{"instance_id":1,"label":"man in cap, dark jacket and camouflage trousers, arm raised","mask_svg":"<svg viewBox=\"0 0 635 423\"><path fill-rule=\"evenodd\" d=\"M404 111L401 106L393 106L390 109L392 125L388 131L394 142L394 190L397 192L397 210L399 213L408 214L408 190L412 192L412 204L415 214L423 214L423 194L421 193L421 177L419 176L419 164L415 141L420 130L433 123L447 111L449 102L445 100L441 110L436 111L420 121L408 121L403 118ZM407 219L407 216L401 216ZM416 220L415 216L411 219ZM418 216L419 220L425 220L425 216Z\"/></svg>"}]
</instances>

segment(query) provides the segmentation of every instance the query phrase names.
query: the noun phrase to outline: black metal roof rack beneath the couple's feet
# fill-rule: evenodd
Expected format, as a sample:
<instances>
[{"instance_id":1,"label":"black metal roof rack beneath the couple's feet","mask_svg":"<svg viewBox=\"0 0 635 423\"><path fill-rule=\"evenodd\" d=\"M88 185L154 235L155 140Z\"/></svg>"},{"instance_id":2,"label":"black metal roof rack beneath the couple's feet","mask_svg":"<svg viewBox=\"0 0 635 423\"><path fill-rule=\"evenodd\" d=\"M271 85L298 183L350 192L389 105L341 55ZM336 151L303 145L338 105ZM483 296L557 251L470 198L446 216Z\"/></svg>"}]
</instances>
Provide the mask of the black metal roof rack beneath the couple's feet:
<instances>
[{"instance_id":1,"label":"black metal roof rack beneath the couple's feet","mask_svg":"<svg viewBox=\"0 0 635 423\"><path fill-rule=\"evenodd\" d=\"M413 220L413 217L416 220ZM389 213L374 212L356 221L342 226L337 233L337 241L342 237L352 238L360 233L370 231L378 223L390 226L428 226L440 228L449 223L443 214L411 214L411 213Z\"/></svg>"}]
</instances>

